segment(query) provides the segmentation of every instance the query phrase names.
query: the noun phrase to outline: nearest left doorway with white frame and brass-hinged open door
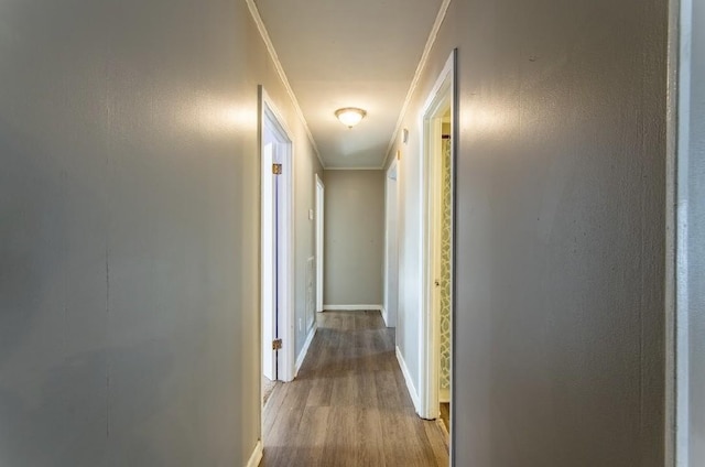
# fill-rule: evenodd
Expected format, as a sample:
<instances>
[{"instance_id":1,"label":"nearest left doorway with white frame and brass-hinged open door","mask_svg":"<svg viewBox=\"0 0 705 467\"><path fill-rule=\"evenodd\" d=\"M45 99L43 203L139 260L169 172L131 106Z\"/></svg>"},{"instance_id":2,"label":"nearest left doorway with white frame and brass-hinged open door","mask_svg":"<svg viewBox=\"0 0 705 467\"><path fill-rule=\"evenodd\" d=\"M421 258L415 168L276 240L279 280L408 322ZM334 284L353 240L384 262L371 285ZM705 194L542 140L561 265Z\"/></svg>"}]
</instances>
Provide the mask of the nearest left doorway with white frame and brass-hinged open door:
<instances>
[{"instance_id":1,"label":"nearest left doorway with white frame and brass-hinged open door","mask_svg":"<svg viewBox=\"0 0 705 467\"><path fill-rule=\"evenodd\" d=\"M262 405L293 376L292 140L260 87Z\"/></svg>"}]
</instances>

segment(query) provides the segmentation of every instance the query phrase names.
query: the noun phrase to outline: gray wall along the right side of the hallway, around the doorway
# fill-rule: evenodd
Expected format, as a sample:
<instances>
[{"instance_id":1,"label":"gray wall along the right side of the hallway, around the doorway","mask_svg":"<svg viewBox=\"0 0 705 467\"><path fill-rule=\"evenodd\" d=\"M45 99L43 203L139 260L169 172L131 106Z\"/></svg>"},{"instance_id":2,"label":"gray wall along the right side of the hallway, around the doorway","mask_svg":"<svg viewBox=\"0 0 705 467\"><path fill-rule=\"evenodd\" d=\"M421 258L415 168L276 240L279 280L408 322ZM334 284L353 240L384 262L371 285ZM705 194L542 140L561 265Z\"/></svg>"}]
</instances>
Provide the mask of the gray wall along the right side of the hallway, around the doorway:
<instances>
[{"instance_id":1,"label":"gray wall along the right side of the hallway, around the doorway","mask_svg":"<svg viewBox=\"0 0 705 467\"><path fill-rule=\"evenodd\" d=\"M666 7L451 6L391 154L417 382L419 119L457 46L457 466L663 465Z\"/></svg>"}]
</instances>

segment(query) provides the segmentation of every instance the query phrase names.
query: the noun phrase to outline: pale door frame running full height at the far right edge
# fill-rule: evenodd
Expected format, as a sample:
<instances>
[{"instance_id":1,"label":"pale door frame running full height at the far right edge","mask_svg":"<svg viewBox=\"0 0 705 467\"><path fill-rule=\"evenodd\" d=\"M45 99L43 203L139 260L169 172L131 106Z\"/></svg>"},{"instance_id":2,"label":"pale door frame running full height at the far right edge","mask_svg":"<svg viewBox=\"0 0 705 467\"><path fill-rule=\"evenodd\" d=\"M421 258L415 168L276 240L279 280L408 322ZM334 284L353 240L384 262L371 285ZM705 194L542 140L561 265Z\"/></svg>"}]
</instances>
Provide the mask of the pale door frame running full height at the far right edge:
<instances>
[{"instance_id":1,"label":"pale door frame running full height at the far right edge","mask_svg":"<svg viewBox=\"0 0 705 467\"><path fill-rule=\"evenodd\" d=\"M702 449L694 447L693 436L698 430L694 413L702 409L695 397L703 367L695 363L693 334L703 323L698 298L693 290L702 261L692 246L698 227L698 191L693 182L702 176L698 149L705 138L694 122L702 118L697 105L695 80L702 73L702 35L696 34L705 22L703 9L696 1L669 2L669 94L666 112L666 283L665 283L665 466L690 466L701 461ZM699 42L698 42L699 41ZM699 83L698 83L699 84ZM702 268L701 268L702 269ZM692 300L695 300L693 302ZM695 385L693 382L695 381ZM694 456L698 456L694 458Z\"/></svg>"}]
</instances>

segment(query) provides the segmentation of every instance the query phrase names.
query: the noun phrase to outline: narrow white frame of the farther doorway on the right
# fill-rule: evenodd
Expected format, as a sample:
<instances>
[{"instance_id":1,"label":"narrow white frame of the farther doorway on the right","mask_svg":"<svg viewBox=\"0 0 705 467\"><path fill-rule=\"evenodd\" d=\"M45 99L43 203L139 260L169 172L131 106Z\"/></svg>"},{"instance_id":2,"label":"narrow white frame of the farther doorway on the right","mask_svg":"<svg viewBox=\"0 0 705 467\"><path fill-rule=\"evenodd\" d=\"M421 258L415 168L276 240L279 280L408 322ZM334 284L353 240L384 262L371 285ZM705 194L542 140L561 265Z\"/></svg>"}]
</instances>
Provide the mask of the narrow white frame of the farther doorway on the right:
<instances>
[{"instance_id":1,"label":"narrow white frame of the farther doorway on the right","mask_svg":"<svg viewBox=\"0 0 705 467\"><path fill-rule=\"evenodd\" d=\"M397 327L397 312L399 309L399 161L394 158L392 163L387 169L387 173L384 174L384 309L383 309L383 318L387 327ZM389 219L390 219L390 205L389 205L389 192L390 192L390 180L394 181L394 239L390 238L389 231ZM390 243L397 249L395 264L391 263L391 251ZM397 275L397 287L391 290L390 285L390 276L392 272ZM389 306L390 295L394 293L397 294L397 301L394 303L394 309Z\"/></svg>"}]
</instances>

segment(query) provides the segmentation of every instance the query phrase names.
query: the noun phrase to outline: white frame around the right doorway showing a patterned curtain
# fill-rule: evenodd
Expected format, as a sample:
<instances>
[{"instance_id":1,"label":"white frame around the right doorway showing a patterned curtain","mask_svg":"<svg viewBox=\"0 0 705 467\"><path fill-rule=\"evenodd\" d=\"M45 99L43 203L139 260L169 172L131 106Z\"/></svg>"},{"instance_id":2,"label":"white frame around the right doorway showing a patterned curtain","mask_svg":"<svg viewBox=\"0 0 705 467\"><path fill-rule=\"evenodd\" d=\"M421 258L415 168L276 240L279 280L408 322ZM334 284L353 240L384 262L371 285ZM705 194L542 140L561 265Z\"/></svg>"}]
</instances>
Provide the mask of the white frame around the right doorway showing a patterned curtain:
<instances>
[{"instance_id":1,"label":"white frame around the right doorway showing a patterned curtain","mask_svg":"<svg viewBox=\"0 0 705 467\"><path fill-rule=\"evenodd\" d=\"M457 88L456 88L456 58L457 50L453 50L445 63L443 70L426 98L421 113L420 127L422 128L422 158L421 158L421 187L422 187L422 221L421 231L421 315L420 315L420 346L419 361L421 369L421 384L419 391L419 415L423 419L437 419L440 416L440 359L441 359L441 319L436 313L440 306L440 297L434 282L440 274L441 249L437 232L441 231L441 216L437 204L440 202L442 184L436 177L441 171L441 159L434 158L433 143L441 140L441 117L443 110L451 106L451 141L452 141L452 184L453 184L453 218L455 218L455 158L457 154ZM455 246L455 225L452 228L452 248ZM451 275L455 275L455 254L451 253ZM453 401L453 387L455 360L455 281L451 281L451 401ZM451 410L454 413L453 402ZM451 425L455 416L451 416ZM451 433L454 433L451 430ZM453 453L453 449L451 449Z\"/></svg>"}]
</instances>

